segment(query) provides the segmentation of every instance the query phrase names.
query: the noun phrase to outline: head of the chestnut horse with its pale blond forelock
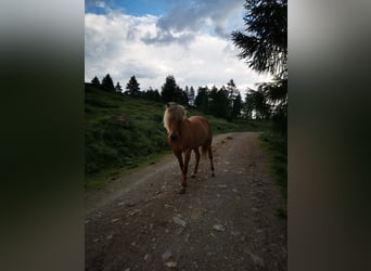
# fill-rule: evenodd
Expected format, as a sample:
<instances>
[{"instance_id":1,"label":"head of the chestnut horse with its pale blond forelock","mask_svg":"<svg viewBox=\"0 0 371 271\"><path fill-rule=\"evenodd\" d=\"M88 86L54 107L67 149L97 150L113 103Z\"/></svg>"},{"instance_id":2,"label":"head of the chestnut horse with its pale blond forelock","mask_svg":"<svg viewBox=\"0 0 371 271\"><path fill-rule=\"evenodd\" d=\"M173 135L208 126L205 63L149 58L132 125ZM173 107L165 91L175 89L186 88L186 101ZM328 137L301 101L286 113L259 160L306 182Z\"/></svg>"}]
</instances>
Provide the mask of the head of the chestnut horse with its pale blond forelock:
<instances>
[{"instance_id":1,"label":"head of the chestnut horse with its pale blond forelock","mask_svg":"<svg viewBox=\"0 0 371 271\"><path fill-rule=\"evenodd\" d=\"M180 126L186 119L186 108L179 104L169 102L165 105L164 127L170 141L177 141L180 137Z\"/></svg>"}]
</instances>

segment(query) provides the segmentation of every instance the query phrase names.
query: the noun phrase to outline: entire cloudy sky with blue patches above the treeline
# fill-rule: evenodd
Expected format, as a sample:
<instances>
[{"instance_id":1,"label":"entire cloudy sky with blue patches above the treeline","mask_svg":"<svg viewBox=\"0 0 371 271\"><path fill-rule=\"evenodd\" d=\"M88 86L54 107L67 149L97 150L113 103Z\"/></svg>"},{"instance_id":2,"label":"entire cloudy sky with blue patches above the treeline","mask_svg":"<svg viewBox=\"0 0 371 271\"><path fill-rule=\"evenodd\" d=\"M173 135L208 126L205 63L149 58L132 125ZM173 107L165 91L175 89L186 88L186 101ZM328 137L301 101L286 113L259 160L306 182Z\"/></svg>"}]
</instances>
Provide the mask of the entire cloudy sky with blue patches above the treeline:
<instances>
[{"instance_id":1,"label":"entire cloudy sky with blue patches above the treeline","mask_svg":"<svg viewBox=\"0 0 371 271\"><path fill-rule=\"evenodd\" d=\"M86 0L85 81L110 74L123 88L161 90L168 75L184 88L233 79L244 92L267 81L236 57L230 37L243 30L244 0Z\"/></svg>"}]
</instances>

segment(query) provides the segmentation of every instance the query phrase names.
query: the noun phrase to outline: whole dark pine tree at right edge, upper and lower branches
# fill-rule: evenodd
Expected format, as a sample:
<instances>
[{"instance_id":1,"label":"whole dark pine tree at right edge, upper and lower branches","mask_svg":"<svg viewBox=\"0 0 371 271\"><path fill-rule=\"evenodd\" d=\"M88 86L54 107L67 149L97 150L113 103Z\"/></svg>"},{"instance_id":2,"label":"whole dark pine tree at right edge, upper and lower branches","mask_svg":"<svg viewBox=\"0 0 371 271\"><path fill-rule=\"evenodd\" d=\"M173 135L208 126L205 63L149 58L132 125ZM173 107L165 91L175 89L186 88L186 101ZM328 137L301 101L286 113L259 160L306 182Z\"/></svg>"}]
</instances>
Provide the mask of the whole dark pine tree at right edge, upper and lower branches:
<instances>
[{"instance_id":1,"label":"whole dark pine tree at right edge, upper and lower branches","mask_svg":"<svg viewBox=\"0 0 371 271\"><path fill-rule=\"evenodd\" d=\"M282 130L287 120L287 1L246 0L245 33L232 33L233 43L241 49L240 59L258 73L270 73L272 82L260 83L250 94L257 117L271 114ZM251 106L250 104L248 106ZM267 108L270 107L270 108Z\"/></svg>"}]
</instances>

